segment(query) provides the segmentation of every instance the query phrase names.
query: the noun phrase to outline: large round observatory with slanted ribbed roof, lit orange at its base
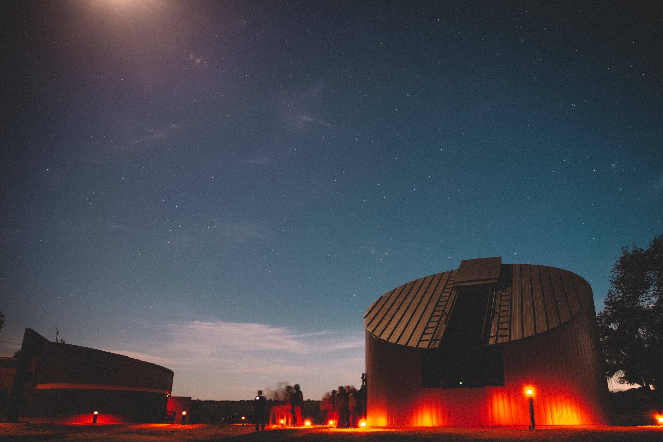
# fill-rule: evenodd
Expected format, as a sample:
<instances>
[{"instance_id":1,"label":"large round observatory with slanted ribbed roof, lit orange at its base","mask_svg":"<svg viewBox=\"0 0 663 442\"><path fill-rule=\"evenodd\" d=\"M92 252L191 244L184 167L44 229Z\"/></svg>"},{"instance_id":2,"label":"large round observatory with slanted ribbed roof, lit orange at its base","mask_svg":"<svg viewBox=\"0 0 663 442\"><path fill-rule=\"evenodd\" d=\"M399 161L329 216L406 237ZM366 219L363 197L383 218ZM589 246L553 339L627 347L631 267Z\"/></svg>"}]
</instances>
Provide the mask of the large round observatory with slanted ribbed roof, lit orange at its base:
<instances>
[{"instance_id":1,"label":"large round observatory with slanted ribbed roof, lit orange at its base","mask_svg":"<svg viewBox=\"0 0 663 442\"><path fill-rule=\"evenodd\" d=\"M560 268L463 260L364 317L372 426L609 423L591 287Z\"/></svg>"}]
</instances>

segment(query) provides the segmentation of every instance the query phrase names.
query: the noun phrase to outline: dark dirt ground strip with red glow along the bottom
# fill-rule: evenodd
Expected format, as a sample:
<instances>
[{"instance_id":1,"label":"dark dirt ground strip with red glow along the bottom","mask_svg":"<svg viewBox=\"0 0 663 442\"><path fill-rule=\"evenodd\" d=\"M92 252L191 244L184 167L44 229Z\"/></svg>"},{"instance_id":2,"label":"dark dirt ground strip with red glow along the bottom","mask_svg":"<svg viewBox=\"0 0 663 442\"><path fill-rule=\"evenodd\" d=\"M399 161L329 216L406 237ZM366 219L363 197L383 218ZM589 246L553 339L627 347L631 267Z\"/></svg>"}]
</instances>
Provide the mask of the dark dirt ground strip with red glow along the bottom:
<instances>
[{"instance_id":1,"label":"dark dirt ground strip with red glow along the bottom","mask_svg":"<svg viewBox=\"0 0 663 442\"><path fill-rule=\"evenodd\" d=\"M593 427L503 429L330 429L327 427L272 429L253 433L249 425L38 425L0 424L0 439L11 441L221 441L228 442L410 442L410 441L588 441L660 442L660 427Z\"/></svg>"}]
</instances>

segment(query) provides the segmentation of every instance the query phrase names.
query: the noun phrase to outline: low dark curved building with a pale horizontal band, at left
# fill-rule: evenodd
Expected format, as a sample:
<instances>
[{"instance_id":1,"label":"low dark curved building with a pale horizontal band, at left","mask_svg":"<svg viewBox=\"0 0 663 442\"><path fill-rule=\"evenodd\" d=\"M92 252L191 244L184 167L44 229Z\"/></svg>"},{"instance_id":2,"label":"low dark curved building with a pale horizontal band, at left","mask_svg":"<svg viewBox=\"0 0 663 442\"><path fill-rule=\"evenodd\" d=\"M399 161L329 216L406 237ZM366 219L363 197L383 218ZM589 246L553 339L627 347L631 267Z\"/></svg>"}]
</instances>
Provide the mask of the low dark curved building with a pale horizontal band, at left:
<instances>
[{"instance_id":1,"label":"low dark curved building with a pale horizontal band, at left","mask_svg":"<svg viewBox=\"0 0 663 442\"><path fill-rule=\"evenodd\" d=\"M116 353L48 341L25 329L3 420L161 423L173 372Z\"/></svg>"}]
</instances>

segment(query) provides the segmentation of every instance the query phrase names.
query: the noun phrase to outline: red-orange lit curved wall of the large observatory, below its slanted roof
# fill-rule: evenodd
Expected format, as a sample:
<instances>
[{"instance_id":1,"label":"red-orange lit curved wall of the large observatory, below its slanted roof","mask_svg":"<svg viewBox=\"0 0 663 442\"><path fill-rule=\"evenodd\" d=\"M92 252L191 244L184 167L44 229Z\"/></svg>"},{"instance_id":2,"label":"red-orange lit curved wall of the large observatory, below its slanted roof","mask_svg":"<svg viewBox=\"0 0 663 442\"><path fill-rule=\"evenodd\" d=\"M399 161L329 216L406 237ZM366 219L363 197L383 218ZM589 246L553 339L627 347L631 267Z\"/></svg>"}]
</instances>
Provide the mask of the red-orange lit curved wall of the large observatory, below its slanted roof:
<instances>
[{"instance_id":1,"label":"red-orange lit curved wall of the large observatory, below its slanted roof","mask_svg":"<svg viewBox=\"0 0 663 442\"><path fill-rule=\"evenodd\" d=\"M503 347L505 385L422 388L419 349L366 334L367 420L371 426L529 425L526 388L537 425L609 423L607 382L593 312Z\"/></svg>"}]
</instances>

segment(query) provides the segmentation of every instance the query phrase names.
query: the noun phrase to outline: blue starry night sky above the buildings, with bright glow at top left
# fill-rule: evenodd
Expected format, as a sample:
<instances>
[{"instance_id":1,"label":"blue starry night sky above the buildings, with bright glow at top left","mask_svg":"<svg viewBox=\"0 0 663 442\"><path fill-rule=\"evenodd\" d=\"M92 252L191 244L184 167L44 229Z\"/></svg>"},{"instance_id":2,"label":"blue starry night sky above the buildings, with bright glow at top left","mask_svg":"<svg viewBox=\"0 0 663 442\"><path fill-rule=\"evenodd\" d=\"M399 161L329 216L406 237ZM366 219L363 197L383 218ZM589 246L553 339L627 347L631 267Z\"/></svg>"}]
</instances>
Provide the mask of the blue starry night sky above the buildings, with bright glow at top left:
<instances>
[{"instance_id":1,"label":"blue starry night sky above the buildings, with bright glow at top left","mask_svg":"<svg viewBox=\"0 0 663 442\"><path fill-rule=\"evenodd\" d=\"M628 4L7 6L0 354L58 327L175 395L316 399L373 300L465 258L601 309L663 232L663 16Z\"/></svg>"}]
</instances>

